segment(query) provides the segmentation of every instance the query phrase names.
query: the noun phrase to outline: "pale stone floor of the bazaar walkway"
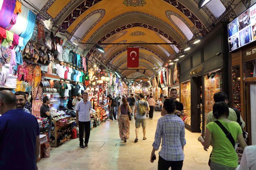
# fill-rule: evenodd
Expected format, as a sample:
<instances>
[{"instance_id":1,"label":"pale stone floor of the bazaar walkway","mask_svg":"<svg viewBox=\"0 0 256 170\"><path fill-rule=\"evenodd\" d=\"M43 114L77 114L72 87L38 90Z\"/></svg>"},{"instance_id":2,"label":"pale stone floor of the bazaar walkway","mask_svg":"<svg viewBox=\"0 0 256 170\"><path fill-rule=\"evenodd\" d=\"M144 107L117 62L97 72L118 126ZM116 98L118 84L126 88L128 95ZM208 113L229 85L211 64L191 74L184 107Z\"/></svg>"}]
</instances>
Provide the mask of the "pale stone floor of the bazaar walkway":
<instances>
[{"instance_id":1,"label":"pale stone floor of the bazaar walkway","mask_svg":"<svg viewBox=\"0 0 256 170\"><path fill-rule=\"evenodd\" d=\"M79 139L72 139L60 147L52 148L51 157L37 163L39 170L156 170L158 162L150 162L150 153L160 112L154 113L154 119L147 119L147 140L142 140L142 128L139 129L139 141L135 139L135 120L130 127L130 139L125 146L116 146L124 142L119 138L118 123L106 121L91 131L89 146L81 149ZM208 159L211 152L203 150L197 141L200 133L186 130L185 160L183 170L209 170Z\"/></svg>"}]
</instances>

